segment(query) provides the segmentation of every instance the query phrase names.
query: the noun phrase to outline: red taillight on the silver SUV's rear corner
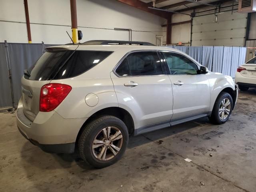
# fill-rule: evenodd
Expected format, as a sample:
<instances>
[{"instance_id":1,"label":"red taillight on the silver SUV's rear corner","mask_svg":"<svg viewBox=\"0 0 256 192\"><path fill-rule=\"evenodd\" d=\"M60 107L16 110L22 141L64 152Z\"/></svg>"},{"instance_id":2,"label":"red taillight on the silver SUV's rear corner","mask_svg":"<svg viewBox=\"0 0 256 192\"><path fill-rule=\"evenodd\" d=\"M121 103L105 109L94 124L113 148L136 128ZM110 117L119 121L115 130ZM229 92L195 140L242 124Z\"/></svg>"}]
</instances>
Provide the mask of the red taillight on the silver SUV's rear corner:
<instances>
[{"instance_id":1,"label":"red taillight on the silver SUV's rear corner","mask_svg":"<svg viewBox=\"0 0 256 192\"><path fill-rule=\"evenodd\" d=\"M69 94L72 87L66 84L50 83L42 86L40 92L40 111L54 110Z\"/></svg>"}]
</instances>

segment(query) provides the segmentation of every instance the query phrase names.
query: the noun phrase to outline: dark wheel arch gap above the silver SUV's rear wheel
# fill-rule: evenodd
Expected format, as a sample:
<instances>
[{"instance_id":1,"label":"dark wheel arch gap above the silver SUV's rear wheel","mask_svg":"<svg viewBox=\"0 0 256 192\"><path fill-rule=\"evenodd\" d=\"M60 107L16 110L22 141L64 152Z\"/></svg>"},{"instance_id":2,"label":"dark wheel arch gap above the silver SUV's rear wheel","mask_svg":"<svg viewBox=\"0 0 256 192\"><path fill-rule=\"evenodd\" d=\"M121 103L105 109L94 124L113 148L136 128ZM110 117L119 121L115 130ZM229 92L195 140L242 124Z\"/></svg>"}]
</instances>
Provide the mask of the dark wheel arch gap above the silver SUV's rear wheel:
<instances>
[{"instance_id":1,"label":"dark wheel arch gap above the silver SUV's rear wheel","mask_svg":"<svg viewBox=\"0 0 256 192\"><path fill-rule=\"evenodd\" d=\"M128 133L133 134L134 120L133 120L131 114L127 110L120 108L120 107L107 107L107 108L98 110L84 122L84 124L81 126L81 128L78 132L78 135L76 137L76 145L77 145L79 137L80 137L82 131L84 130L85 126L87 124L89 124L90 122L92 122L94 119L98 118L99 116L104 116L104 115L112 115L112 116L119 118L120 120L122 120L124 122L124 124L128 128Z\"/></svg>"}]
</instances>

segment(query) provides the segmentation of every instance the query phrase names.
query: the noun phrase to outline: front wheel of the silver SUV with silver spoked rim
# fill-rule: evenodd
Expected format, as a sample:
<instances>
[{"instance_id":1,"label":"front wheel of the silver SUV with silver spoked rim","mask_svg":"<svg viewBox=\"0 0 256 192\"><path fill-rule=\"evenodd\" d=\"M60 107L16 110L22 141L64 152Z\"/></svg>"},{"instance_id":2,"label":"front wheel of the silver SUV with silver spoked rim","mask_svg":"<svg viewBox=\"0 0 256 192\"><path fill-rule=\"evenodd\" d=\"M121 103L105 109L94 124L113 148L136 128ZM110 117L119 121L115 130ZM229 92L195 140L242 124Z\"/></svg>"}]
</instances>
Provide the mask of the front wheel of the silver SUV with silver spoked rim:
<instances>
[{"instance_id":1,"label":"front wheel of the silver SUV with silver spoked rim","mask_svg":"<svg viewBox=\"0 0 256 192\"><path fill-rule=\"evenodd\" d=\"M209 119L214 124L223 124L229 119L232 109L233 100L231 95L227 92L222 92L216 99Z\"/></svg>"}]
</instances>

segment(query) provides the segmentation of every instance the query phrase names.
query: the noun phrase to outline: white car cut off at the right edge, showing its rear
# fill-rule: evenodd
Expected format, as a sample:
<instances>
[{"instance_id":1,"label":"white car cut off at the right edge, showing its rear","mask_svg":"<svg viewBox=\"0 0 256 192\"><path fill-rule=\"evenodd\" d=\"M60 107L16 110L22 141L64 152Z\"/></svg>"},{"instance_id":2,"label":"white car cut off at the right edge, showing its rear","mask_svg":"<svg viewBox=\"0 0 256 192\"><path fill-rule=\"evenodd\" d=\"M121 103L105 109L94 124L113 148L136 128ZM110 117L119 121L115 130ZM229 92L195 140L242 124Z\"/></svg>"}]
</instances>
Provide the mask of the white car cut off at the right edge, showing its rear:
<instances>
[{"instance_id":1,"label":"white car cut off at the right edge, showing its rear","mask_svg":"<svg viewBox=\"0 0 256 192\"><path fill-rule=\"evenodd\" d=\"M237 68L235 82L241 91L256 88L256 57Z\"/></svg>"}]
</instances>

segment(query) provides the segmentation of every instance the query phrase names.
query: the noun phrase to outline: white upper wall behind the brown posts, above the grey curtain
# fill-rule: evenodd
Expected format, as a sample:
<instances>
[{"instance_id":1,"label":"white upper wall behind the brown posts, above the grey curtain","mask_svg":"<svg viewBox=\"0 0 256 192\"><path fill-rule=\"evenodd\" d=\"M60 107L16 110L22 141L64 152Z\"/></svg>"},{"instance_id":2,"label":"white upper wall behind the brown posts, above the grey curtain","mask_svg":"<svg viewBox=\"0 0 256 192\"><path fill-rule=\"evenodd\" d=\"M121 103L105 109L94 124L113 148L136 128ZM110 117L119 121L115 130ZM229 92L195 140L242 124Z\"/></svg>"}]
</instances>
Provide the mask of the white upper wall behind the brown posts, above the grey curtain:
<instances>
[{"instance_id":1,"label":"white upper wall behind the brown posts, above the grey curtain","mask_svg":"<svg viewBox=\"0 0 256 192\"><path fill-rule=\"evenodd\" d=\"M23 0L0 0L0 42L27 42ZM83 40L129 40L128 32L114 28L130 28L132 40L156 43L162 35L165 19L116 0L77 0L78 29ZM70 0L28 0L33 43L64 44L70 42ZM79 27L80 26L80 27ZM164 39L164 41L166 41Z\"/></svg>"}]
</instances>

